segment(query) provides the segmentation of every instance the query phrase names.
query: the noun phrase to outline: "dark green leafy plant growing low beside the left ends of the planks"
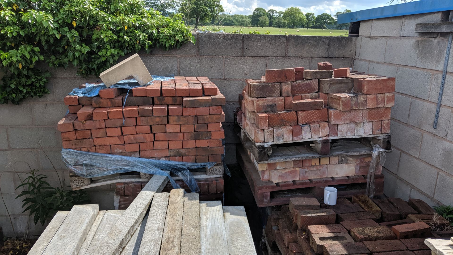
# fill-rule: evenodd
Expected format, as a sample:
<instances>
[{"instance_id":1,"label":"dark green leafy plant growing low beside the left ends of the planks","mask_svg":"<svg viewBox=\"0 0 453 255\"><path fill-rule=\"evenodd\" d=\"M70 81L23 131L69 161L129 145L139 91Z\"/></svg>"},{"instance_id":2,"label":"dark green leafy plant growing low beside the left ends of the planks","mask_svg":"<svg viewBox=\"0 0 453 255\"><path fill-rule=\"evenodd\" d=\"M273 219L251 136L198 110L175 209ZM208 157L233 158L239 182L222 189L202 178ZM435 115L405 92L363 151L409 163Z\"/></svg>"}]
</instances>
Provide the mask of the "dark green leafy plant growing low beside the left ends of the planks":
<instances>
[{"instance_id":1,"label":"dark green leafy plant growing low beside the left ends of the planks","mask_svg":"<svg viewBox=\"0 0 453 255\"><path fill-rule=\"evenodd\" d=\"M22 200L23 212L29 211L33 215L34 224L38 221L44 225L46 220L56 211L69 211L75 204L89 203L90 198L85 191L64 190L62 187L52 187L39 170L31 170L30 175L16 187L24 187L24 191L16 197L25 196Z\"/></svg>"}]
</instances>

